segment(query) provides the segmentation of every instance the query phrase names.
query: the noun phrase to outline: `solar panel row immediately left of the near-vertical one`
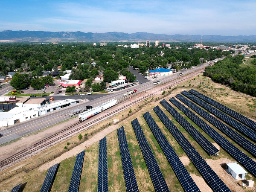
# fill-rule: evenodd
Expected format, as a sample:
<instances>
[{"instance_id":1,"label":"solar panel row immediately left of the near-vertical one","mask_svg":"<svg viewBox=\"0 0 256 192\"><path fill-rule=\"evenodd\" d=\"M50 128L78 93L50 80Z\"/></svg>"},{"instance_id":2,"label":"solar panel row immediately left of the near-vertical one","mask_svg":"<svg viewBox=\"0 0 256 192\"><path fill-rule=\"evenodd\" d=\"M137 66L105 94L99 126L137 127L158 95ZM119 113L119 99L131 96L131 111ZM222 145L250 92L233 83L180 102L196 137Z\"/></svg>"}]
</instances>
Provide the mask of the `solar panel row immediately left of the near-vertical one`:
<instances>
[{"instance_id":1,"label":"solar panel row immediately left of the near-vertical one","mask_svg":"<svg viewBox=\"0 0 256 192\"><path fill-rule=\"evenodd\" d=\"M75 161L73 173L71 176L68 192L78 192L83 163L84 163L84 151L76 155L76 161Z\"/></svg>"}]
</instances>

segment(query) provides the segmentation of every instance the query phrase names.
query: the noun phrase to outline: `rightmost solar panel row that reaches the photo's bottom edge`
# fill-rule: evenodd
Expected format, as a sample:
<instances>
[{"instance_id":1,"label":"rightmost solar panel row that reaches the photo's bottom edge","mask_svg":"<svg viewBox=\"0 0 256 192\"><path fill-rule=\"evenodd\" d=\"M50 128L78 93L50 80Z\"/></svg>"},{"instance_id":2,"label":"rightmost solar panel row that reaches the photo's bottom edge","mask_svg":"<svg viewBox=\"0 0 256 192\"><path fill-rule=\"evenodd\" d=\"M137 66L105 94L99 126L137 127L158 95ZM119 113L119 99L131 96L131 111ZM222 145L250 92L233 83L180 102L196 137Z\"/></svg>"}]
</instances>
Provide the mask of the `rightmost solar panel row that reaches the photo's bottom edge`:
<instances>
[{"instance_id":1,"label":"rightmost solar panel row that reaches the photo's bottom edge","mask_svg":"<svg viewBox=\"0 0 256 192\"><path fill-rule=\"evenodd\" d=\"M168 102L162 100L160 102L164 107ZM204 179L209 183L209 186L215 192L231 192L226 184L221 180L220 177L212 170L212 168L206 163L203 157L195 150L195 148L189 143L186 137L179 131L179 129L171 122L171 120L166 116L165 113L158 107L154 108L154 111L157 113L157 116L170 131L172 136L177 140L180 146L183 148L189 159L204 177Z\"/></svg>"}]
</instances>

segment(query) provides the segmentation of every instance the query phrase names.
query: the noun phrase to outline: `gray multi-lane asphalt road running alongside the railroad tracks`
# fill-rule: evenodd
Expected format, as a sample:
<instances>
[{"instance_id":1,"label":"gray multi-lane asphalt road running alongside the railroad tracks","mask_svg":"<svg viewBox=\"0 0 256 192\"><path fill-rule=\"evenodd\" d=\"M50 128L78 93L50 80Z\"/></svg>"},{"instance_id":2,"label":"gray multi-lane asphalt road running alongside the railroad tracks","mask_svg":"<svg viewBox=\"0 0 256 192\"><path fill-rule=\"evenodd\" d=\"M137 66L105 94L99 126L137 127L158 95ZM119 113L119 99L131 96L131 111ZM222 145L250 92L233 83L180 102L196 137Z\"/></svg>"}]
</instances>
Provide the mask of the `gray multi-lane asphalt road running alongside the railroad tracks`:
<instances>
[{"instance_id":1,"label":"gray multi-lane asphalt road running alongside the railroad tracks","mask_svg":"<svg viewBox=\"0 0 256 192\"><path fill-rule=\"evenodd\" d=\"M191 68L191 69L188 69L188 70L183 70L183 73L184 73L184 75L186 75L188 73L200 70L200 69L202 69L206 66L209 66L209 63L212 63L212 61L209 61L205 64L200 64L198 67L195 67L195 68ZM174 79L177 79L177 78L179 78L177 76L177 73L174 73L172 75L165 76L163 79L160 79L160 80L162 82L166 82L166 81L171 81L171 80L174 80ZM11 141L11 140L14 140L18 137L22 137L22 136L24 136L26 134L29 134L29 133L32 133L34 131L38 131L42 128L46 128L50 125L54 125L54 124L56 124L58 122L61 122L65 119L69 119L70 116L68 116L68 114L72 110L75 110L77 108L81 108L81 107L84 108L84 107L86 107L86 105L92 105L93 107L96 107L96 106L98 106L98 105L100 105L104 102L107 102L111 99L117 99L117 100L122 99L123 94L127 90L137 89L138 92L141 92L141 91L146 91L146 90L150 89L151 87L153 87L153 81L148 80L148 82L143 81L143 84L138 84L138 85L135 85L133 87L129 87L128 89L123 89L123 90L111 92L111 93L104 94L104 95L88 95L88 96L86 96L86 99L89 99L90 100L89 102L80 102L76 105L73 105L73 106L70 106L70 107L67 107L67 108L63 108L61 110L54 111L52 113L47 113L47 114L39 116L35 119L30 119L29 121L16 123L15 125L12 125L11 127L8 127L6 129L4 129L3 131L0 130L0 133L3 134L3 137L0 138L0 144L6 143L6 142ZM56 97L56 96L54 96L54 97ZM64 99L67 99L67 98L73 99L73 97L74 96L64 96ZM76 96L76 97L81 99L81 96ZM108 110L111 110L111 109L108 109Z\"/></svg>"}]
</instances>

